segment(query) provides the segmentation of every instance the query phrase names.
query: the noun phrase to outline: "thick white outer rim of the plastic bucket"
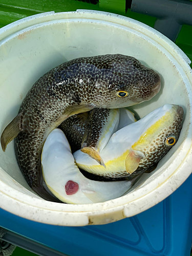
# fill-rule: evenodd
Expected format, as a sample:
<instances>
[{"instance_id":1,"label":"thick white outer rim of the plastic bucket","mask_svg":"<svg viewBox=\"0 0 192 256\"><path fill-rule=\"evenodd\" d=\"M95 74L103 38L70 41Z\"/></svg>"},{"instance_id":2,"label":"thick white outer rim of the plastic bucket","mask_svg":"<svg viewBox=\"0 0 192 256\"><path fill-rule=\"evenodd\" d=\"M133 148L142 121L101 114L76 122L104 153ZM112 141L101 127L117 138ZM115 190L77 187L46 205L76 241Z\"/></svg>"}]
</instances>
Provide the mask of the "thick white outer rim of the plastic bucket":
<instances>
[{"instance_id":1,"label":"thick white outer rim of the plastic bucket","mask_svg":"<svg viewBox=\"0 0 192 256\"><path fill-rule=\"evenodd\" d=\"M190 78L189 80L192 82L192 73L189 67L190 60L183 53L183 51L174 44L174 42L172 42L170 39L162 35L160 32L156 31L155 29L145 24L142 24L137 20L108 12L77 10L76 12L47 12L36 14L20 19L12 24L1 28L0 40L9 37L13 33L13 31L15 33L16 31L26 29L29 26L39 24L39 22L44 23L55 19L69 19L70 17L80 19L89 19L91 17L92 19L108 21L123 26L128 26L129 24L131 28L134 28L140 33L146 33L148 37L150 37L152 40L158 41L158 43L160 45L163 45L164 48L166 46L165 49L169 53L171 53L175 59L177 59L177 61L182 66L182 69L185 72L186 76ZM15 31L15 29L17 30ZM155 198L158 196L158 202L160 202L167 196L172 194L173 191L175 191L175 189L177 189L187 179L187 177L192 173L192 170L190 170L190 165L192 164L191 151L192 144L190 144L190 150L188 151L186 157L182 160L181 165L177 169L175 169L174 173L172 173L171 175L169 174L169 166L163 174L156 177L151 182L153 189L148 191L146 194L146 188L144 186L138 188L137 190L139 191L139 193L144 193L145 191L145 194L142 197L137 198L138 191L135 191L130 202L125 202L128 195L103 203L90 204L90 206L88 204L58 204L48 202L35 196L30 196L26 194L23 195L22 200L18 200L17 198L15 198L15 195L18 195L20 197L22 195L22 192L12 187L8 187L6 183L0 180L0 196L2 197L2 199L4 199L2 200L3 202L1 203L1 207L13 213L11 205L14 204L14 214L37 222L43 222L53 225L81 226L88 224L104 224L126 217L131 217L154 206L157 203L155 203L153 199L149 201L147 199L148 195L150 195L151 198ZM185 169L186 171L184 174L182 174L181 180L180 175L182 169ZM162 177L164 177L163 182L160 183L159 180L162 180ZM134 198L136 198L136 200L134 200ZM56 205L57 210L55 210ZM28 207L30 207L30 212ZM41 217L39 217L37 213L39 213ZM55 219L53 219L52 214L54 214ZM61 220L57 218L60 215L62 215ZM44 218L43 216L46 217ZM115 217L113 218L113 216ZM69 217L72 220L69 220ZM67 218L67 222L65 218Z\"/></svg>"}]
</instances>

